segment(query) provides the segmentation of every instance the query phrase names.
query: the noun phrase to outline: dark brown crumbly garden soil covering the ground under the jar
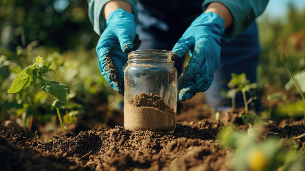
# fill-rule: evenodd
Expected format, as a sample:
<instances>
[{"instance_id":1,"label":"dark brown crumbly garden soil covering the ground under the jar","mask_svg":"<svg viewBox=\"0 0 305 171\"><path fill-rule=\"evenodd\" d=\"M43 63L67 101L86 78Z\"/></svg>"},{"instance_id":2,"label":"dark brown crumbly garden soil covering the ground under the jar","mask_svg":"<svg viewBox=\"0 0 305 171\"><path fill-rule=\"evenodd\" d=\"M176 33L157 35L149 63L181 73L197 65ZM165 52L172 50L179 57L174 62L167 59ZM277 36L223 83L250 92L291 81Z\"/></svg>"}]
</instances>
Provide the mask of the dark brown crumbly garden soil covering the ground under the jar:
<instances>
[{"instance_id":1,"label":"dark brown crumbly garden soil covering the ground under the jar","mask_svg":"<svg viewBox=\"0 0 305 171\"><path fill-rule=\"evenodd\" d=\"M47 143L26 138L20 130L10 131L4 123L0 170L231 170L232 150L220 148L216 135L227 125L245 132L248 126L239 117L244 109L229 109L215 121L207 106L185 104L179 107L175 131L167 134L99 126L57 134ZM282 140L298 136L305 132L304 125L305 119L265 124L260 141L274 135ZM296 142L304 154L305 138Z\"/></svg>"}]
</instances>

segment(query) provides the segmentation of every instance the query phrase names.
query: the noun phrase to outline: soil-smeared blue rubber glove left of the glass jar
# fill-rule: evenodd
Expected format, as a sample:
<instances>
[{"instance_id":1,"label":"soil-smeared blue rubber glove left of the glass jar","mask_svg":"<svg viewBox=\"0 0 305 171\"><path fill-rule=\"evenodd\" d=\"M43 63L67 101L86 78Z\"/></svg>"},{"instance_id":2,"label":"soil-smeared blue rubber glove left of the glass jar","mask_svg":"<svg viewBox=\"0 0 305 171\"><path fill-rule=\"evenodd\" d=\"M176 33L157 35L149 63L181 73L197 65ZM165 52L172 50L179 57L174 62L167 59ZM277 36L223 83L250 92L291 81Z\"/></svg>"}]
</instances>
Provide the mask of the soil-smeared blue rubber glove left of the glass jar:
<instances>
[{"instance_id":1,"label":"soil-smeared blue rubber glove left of the glass jar","mask_svg":"<svg viewBox=\"0 0 305 171\"><path fill-rule=\"evenodd\" d=\"M111 87L124 96L123 66L127 62L126 53L135 48L135 16L117 9L109 14L106 25L96 46L99 70Z\"/></svg>"}]
</instances>

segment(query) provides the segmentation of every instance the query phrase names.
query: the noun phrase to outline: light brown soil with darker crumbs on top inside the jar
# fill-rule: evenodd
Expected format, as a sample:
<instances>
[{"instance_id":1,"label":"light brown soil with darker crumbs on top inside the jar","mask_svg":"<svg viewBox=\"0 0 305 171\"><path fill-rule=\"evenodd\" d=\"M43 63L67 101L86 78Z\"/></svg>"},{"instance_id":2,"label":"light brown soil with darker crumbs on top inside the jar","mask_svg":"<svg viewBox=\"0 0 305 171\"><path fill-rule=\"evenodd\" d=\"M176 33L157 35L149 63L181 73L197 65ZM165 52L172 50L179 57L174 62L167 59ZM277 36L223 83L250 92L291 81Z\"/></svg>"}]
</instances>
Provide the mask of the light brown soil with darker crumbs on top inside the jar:
<instances>
[{"instance_id":1,"label":"light brown soil with darker crumbs on top inside the jar","mask_svg":"<svg viewBox=\"0 0 305 171\"><path fill-rule=\"evenodd\" d=\"M173 132L176 127L174 108L153 93L132 96L124 106L124 127L132 131Z\"/></svg>"}]
</instances>

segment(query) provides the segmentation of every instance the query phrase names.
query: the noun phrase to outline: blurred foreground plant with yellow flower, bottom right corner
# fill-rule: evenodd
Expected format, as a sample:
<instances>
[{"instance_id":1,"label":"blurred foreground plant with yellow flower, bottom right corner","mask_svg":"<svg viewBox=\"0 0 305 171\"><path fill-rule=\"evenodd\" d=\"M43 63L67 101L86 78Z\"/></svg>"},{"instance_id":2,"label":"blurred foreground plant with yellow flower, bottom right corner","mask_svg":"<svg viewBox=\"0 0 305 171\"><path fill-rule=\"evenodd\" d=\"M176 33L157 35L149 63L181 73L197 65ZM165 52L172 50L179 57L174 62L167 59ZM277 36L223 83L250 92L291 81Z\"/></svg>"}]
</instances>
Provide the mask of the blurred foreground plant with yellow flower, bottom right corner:
<instances>
[{"instance_id":1,"label":"blurred foreground plant with yellow flower, bottom right corner","mask_svg":"<svg viewBox=\"0 0 305 171\"><path fill-rule=\"evenodd\" d=\"M257 141L257 135L242 134L233 128L222 129L217 135L223 147L235 149L231 158L235 171L305 169L305 163L295 149L286 150L278 144L279 138L276 137L268 138L266 142Z\"/></svg>"}]
</instances>

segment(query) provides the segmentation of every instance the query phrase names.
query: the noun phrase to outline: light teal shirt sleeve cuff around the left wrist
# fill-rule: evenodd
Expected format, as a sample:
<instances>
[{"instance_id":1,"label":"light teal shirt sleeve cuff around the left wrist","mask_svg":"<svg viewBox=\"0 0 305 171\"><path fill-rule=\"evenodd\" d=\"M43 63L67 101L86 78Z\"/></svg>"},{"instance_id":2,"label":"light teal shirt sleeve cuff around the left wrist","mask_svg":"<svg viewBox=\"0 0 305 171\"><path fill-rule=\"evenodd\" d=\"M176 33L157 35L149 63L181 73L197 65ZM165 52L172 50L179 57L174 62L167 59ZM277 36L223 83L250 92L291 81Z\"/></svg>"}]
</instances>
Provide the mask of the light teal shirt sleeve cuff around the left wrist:
<instances>
[{"instance_id":1,"label":"light teal shirt sleeve cuff around the left wrist","mask_svg":"<svg viewBox=\"0 0 305 171\"><path fill-rule=\"evenodd\" d=\"M89 4L88 15L93 25L93 30L99 36L106 28L106 20L102 15L102 9L104 5L110 0L87 0ZM136 8L137 0L123 0L128 2L132 6L133 14L135 15L135 21L138 21L138 10Z\"/></svg>"}]
</instances>

